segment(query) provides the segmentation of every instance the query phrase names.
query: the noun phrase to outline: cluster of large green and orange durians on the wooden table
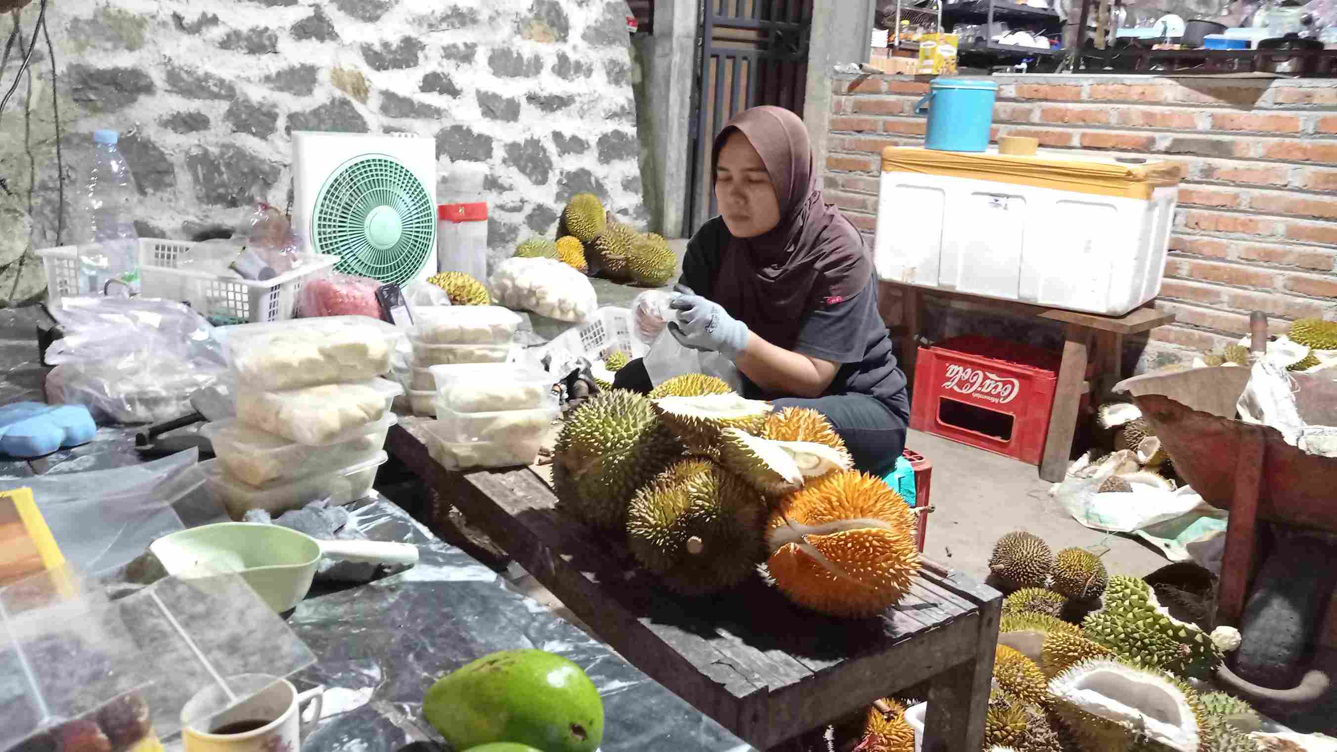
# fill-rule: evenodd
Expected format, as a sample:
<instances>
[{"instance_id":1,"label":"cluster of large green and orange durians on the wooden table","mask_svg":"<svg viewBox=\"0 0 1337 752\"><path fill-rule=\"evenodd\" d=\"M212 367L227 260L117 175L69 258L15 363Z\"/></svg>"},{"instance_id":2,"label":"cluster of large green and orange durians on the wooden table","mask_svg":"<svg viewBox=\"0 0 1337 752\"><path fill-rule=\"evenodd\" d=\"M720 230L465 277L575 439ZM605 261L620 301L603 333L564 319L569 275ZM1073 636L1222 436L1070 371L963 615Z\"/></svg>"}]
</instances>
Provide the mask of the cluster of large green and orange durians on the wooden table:
<instances>
[{"instance_id":1,"label":"cluster of large green and orange durians on the wooden table","mask_svg":"<svg viewBox=\"0 0 1337 752\"><path fill-rule=\"evenodd\" d=\"M558 508L624 535L667 587L706 594L759 577L808 609L874 616L919 573L915 511L850 470L812 409L773 412L719 379L678 376L650 396L595 395L552 462Z\"/></svg>"}]
</instances>

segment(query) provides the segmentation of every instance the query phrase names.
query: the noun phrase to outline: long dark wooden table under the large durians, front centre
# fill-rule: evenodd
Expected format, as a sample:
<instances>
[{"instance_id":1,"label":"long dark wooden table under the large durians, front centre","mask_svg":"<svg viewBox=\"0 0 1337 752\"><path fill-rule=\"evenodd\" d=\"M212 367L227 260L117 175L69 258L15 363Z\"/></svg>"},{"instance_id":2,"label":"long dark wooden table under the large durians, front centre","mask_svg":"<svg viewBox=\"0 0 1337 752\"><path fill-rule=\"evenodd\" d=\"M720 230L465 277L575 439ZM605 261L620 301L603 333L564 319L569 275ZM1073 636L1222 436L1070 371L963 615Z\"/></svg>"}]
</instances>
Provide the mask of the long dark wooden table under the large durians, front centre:
<instances>
[{"instance_id":1,"label":"long dark wooden table under the large durians, front centre","mask_svg":"<svg viewBox=\"0 0 1337 752\"><path fill-rule=\"evenodd\" d=\"M422 423L402 419L386 450L631 664L758 749L923 681L924 751L980 748L996 590L929 565L901 603L869 620L802 610L761 577L718 597L678 597L636 570L618 537L559 514L533 470L445 470Z\"/></svg>"}]
</instances>

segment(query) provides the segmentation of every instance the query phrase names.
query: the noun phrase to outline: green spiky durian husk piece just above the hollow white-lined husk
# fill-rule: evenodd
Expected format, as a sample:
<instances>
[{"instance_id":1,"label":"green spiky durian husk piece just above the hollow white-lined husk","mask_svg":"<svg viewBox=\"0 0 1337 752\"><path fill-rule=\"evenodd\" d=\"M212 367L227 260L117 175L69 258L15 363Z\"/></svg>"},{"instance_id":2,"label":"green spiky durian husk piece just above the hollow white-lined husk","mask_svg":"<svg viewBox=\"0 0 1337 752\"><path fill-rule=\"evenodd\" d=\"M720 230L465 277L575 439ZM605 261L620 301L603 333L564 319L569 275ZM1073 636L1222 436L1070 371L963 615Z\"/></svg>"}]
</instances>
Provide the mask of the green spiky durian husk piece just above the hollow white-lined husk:
<instances>
[{"instance_id":1,"label":"green spiky durian husk piece just above the hollow white-lined husk","mask_svg":"<svg viewBox=\"0 0 1337 752\"><path fill-rule=\"evenodd\" d=\"M1171 617L1151 586L1135 577L1111 577L1104 609L1087 616L1082 628L1095 642L1143 666L1210 678L1222 661L1211 637Z\"/></svg>"}]
</instances>

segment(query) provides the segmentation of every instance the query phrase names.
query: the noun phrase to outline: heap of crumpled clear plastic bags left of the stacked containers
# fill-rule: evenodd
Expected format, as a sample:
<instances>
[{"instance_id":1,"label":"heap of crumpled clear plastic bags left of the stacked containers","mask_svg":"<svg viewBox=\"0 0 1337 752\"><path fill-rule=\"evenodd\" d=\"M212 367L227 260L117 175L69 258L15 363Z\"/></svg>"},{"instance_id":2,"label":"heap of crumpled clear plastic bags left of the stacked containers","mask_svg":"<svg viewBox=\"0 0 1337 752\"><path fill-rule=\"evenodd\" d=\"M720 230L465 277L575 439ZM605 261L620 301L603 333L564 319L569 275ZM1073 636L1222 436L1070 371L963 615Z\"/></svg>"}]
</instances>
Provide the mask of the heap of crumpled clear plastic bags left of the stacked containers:
<instances>
[{"instance_id":1,"label":"heap of crumpled clear plastic bags left of the stacked containers","mask_svg":"<svg viewBox=\"0 0 1337 752\"><path fill-rule=\"evenodd\" d=\"M83 404L102 423L187 415L190 395L226 372L214 328L179 302L62 297L51 316L66 336L47 348L56 365L47 375L47 400Z\"/></svg>"}]
</instances>

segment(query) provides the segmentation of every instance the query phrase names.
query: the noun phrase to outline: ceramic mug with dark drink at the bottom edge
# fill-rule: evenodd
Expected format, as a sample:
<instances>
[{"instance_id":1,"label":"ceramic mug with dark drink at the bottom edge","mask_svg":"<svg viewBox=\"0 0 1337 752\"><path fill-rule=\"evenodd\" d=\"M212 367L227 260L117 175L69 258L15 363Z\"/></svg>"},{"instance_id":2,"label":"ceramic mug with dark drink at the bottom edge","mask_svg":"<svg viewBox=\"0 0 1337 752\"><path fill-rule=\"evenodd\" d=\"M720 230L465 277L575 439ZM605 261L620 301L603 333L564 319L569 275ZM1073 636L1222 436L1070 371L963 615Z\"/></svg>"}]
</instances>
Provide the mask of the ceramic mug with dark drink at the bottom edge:
<instances>
[{"instance_id":1,"label":"ceramic mug with dark drink at the bottom edge","mask_svg":"<svg viewBox=\"0 0 1337 752\"><path fill-rule=\"evenodd\" d=\"M324 686L298 693L293 682L269 674L229 677L229 685L235 693L251 697L203 720L183 723L180 736L186 752L298 752L302 739L321 717ZM226 705L222 688L210 686L186 702L182 719L199 717L209 708ZM312 712L303 713L303 705ZM306 715L310 719L303 717ZM229 727L239 731L217 733Z\"/></svg>"}]
</instances>

